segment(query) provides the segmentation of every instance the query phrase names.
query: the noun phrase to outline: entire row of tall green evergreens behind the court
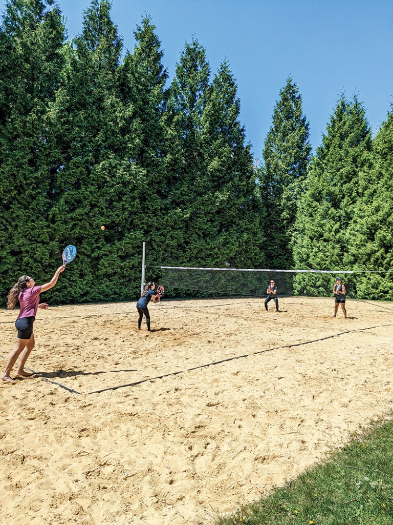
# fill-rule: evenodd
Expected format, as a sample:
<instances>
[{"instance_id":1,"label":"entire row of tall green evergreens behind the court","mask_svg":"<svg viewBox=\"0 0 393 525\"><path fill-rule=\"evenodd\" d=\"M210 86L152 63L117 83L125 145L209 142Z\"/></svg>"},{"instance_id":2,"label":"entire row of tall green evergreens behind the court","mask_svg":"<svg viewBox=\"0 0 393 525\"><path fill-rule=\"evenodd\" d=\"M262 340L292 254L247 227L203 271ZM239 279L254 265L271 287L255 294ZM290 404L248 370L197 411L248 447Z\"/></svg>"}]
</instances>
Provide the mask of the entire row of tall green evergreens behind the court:
<instances>
[{"instance_id":1,"label":"entire row of tall green evergreens behind the court","mask_svg":"<svg viewBox=\"0 0 393 525\"><path fill-rule=\"evenodd\" d=\"M149 16L134 36L130 52L107 0L72 40L53 0L6 3L0 295L22 273L45 281L73 244L52 301L135 299L146 241L152 266L377 271L358 293L392 299L391 113L373 138L343 95L312 154L288 78L258 163L228 62L212 73L192 38L170 80Z\"/></svg>"}]
</instances>

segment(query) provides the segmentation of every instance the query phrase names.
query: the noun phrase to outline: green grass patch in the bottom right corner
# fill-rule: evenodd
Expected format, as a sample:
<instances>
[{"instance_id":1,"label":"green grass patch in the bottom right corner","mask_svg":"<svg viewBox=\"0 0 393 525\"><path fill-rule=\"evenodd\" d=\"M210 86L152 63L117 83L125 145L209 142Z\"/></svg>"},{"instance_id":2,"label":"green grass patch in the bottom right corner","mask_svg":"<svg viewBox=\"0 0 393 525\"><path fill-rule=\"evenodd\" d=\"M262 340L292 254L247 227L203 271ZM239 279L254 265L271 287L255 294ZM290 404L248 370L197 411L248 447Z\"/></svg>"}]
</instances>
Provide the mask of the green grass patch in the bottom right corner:
<instances>
[{"instance_id":1,"label":"green grass patch in the bottom right corner","mask_svg":"<svg viewBox=\"0 0 393 525\"><path fill-rule=\"evenodd\" d=\"M326 462L217 525L392 525L393 420L370 424Z\"/></svg>"}]
</instances>

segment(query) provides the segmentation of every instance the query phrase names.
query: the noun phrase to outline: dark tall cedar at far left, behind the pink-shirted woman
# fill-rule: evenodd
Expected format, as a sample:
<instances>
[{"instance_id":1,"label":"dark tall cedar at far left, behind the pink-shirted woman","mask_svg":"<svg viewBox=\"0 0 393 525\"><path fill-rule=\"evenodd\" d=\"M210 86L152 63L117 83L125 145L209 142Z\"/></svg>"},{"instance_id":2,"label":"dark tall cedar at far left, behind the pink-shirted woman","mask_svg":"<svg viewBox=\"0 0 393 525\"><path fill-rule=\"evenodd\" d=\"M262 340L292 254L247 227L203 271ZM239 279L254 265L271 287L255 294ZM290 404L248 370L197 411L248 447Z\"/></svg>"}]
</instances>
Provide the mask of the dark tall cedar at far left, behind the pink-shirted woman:
<instances>
[{"instance_id":1,"label":"dark tall cedar at far left, behind the pink-shirted woman","mask_svg":"<svg viewBox=\"0 0 393 525\"><path fill-rule=\"evenodd\" d=\"M48 225L57 159L48 106L59 85L64 25L51 1L9 0L0 27L0 295L21 274L51 277ZM61 263L60 257L58 258Z\"/></svg>"}]
</instances>

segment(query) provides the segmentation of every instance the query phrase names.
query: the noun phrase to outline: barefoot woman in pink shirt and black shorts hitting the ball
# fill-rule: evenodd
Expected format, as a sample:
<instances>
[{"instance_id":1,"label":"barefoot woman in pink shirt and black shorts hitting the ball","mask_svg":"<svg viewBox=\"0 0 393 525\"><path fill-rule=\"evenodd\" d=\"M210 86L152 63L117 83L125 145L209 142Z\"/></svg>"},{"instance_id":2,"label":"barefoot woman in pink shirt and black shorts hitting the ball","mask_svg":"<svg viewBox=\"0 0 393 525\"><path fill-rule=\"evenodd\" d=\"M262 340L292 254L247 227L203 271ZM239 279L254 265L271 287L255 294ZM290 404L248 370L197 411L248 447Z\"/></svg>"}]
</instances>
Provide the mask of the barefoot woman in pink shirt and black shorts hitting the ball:
<instances>
[{"instance_id":1,"label":"barefoot woman in pink shirt and black shorts hitting the ball","mask_svg":"<svg viewBox=\"0 0 393 525\"><path fill-rule=\"evenodd\" d=\"M1 376L3 381L13 382L14 380L10 377L12 367L16 363L18 357L19 366L16 371L16 375L23 375L29 377L32 374L25 372L25 363L31 350L34 348L34 333L33 323L36 319L36 313L38 308L46 310L48 304L43 302L39 304L40 293L53 288L56 285L59 275L64 271L65 266L60 266L52 279L46 283L46 285L36 286L36 281L27 275L23 275L19 278L18 282L9 290L7 308L12 310L15 304L20 303L20 312L18 319L16 320L15 326L18 330L18 336L14 350L9 354L7 365Z\"/></svg>"}]
</instances>

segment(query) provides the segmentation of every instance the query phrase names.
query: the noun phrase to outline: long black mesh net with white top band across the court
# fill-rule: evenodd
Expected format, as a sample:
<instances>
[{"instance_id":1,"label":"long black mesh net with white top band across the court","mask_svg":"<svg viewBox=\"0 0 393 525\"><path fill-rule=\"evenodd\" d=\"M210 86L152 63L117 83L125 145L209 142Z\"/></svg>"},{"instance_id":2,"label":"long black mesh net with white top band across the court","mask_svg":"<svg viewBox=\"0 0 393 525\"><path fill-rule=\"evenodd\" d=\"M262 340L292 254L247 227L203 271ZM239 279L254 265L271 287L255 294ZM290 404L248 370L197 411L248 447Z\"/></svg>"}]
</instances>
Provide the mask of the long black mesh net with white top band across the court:
<instances>
[{"instance_id":1,"label":"long black mesh net with white top band across the court","mask_svg":"<svg viewBox=\"0 0 393 525\"><path fill-rule=\"evenodd\" d=\"M154 279L160 279L165 287L203 292L203 295L264 296L270 281L274 280L278 297L332 297L336 278L341 277L348 298L391 300L393 297L390 272L176 266L146 266L146 271L154 275ZM370 285L370 279L377 286Z\"/></svg>"}]
</instances>

